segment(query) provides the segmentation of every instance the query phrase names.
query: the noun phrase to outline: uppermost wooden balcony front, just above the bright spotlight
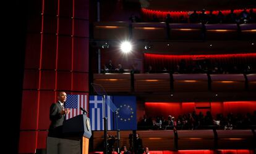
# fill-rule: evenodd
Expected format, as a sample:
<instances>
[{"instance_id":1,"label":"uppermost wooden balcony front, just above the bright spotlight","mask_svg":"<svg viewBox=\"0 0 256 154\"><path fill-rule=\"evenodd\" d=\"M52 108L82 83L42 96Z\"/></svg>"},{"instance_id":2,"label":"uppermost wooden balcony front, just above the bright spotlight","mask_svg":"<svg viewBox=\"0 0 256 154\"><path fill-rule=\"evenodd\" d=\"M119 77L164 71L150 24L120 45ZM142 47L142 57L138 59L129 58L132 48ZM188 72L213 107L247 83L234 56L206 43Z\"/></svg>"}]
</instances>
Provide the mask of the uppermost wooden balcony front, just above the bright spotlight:
<instances>
[{"instance_id":1,"label":"uppermost wooden balcony front, just above the bright spotlight","mask_svg":"<svg viewBox=\"0 0 256 154\"><path fill-rule=\"evenodd\" d=\"M252 40L256 38L256 23L241 25L236 23L206 25L201 23L169 23L166 25L164 22L95 22L93 25L93 39L122 40L127 38L135 40Z\"/></svg>"}]
</instances>

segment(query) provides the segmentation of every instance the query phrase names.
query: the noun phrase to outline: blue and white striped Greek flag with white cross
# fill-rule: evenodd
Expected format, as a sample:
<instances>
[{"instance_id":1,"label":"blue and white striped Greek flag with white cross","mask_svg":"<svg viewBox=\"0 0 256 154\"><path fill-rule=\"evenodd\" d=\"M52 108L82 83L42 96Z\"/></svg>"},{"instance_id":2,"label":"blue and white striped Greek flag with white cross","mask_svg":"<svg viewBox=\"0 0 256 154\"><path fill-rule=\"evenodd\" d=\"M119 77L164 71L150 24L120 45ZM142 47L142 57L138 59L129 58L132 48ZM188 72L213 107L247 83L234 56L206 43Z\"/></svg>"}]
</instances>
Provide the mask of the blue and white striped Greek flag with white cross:
<instances>
[{"instance_id":1,"label":"blue and white striped Greek flag with white cross","mask_svg":"<svg viewBox=\"0 0 256 154\"><path fill-rule=\"evenodd\" d=\"M111 101L112 96L106 96L106 101ZM105 105L105 115L108 118L108 130L113 130L113 111L109 107L108 102ZM104 112L103 112L103 97L101 95L90 95L89 114L92 131L104 130Z\"/></svg>"}]
</instances>

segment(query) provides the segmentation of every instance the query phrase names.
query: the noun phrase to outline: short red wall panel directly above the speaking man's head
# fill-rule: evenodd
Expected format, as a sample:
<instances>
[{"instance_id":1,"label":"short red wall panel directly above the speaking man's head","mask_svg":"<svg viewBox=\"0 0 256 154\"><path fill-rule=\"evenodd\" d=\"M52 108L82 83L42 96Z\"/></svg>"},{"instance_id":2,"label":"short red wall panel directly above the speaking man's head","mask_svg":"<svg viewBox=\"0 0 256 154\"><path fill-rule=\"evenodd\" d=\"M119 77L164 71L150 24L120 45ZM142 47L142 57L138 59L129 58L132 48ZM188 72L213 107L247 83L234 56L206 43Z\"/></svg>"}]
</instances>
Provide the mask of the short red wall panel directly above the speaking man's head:
<instances>
[{"instance_id":1,"label":"short red wall panel directly above the speaking man's head","mask_svg":"<svg viewBox=\"0 0 256 154\"><path fill-rule=\"evenodd\" d=\"M57 89L58 90L70 90L71 89L71 73L58 72L57 73Z\"/></svg>"}]
</instances>

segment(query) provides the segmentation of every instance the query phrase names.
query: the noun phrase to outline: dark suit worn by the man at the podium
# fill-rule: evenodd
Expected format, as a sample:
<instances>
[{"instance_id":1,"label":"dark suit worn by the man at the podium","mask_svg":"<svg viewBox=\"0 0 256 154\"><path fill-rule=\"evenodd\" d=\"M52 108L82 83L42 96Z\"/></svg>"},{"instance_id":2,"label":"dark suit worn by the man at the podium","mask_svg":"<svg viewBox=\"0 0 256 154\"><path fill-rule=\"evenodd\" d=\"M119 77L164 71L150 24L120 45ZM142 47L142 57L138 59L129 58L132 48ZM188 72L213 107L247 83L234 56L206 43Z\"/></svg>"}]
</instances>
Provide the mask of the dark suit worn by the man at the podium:
<instances>
[{"instance_id":1,"label":"dark suit worn by the man at the podium","mask_svg":"<svg viewBox=\"0 0 256 154\"><path fill-rule=\"evenodd\" d=\"M62 134L62 125L65 120L65 115L61 115L61 103L56 102L51 104L49 118L51 124L49 126L48 136L60 137Z\"/></svg>"}]
</instances>

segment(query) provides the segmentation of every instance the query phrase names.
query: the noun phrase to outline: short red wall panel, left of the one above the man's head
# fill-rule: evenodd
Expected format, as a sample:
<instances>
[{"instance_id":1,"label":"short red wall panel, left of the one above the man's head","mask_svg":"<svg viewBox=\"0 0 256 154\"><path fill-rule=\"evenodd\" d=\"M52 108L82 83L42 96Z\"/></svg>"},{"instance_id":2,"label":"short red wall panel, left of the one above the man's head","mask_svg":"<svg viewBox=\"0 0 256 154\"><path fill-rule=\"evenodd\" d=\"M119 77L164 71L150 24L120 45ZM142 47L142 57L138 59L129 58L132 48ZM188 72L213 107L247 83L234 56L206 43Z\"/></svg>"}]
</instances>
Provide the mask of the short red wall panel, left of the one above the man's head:
<instances>
[{"instance_id":1,"label":"short red wall panel, left of the one above the man's head","mask_svg":"<svg viewBox=\"0 0 256 154\"><path fill-rule=\"evenodd\" d=\"M41 71L40 89L55 89L55 71Z\"/></svg>"}]
</instances>

